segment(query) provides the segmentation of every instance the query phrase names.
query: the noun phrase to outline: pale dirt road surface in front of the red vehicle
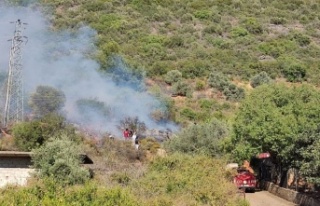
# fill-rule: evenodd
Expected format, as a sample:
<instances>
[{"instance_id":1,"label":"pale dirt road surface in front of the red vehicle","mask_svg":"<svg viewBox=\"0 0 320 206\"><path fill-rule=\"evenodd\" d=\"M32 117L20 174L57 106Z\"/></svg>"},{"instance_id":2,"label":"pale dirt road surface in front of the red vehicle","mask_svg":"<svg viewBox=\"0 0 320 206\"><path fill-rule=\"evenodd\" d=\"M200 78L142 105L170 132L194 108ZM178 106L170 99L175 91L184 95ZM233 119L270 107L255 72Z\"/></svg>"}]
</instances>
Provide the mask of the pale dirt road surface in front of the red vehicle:
<instances>
[{"instance_id":1,"label":"pale dirt road surface in front of the red vehicle","mask_svg":"<svg viewBox=\"0 0 320 206\"><path fill-rule=\"evenodd\" d=\"M296 206L296 204L288 202L267 191L246 193L246 199L250 202L250 206Z\"/></svg>"}]
</instances>

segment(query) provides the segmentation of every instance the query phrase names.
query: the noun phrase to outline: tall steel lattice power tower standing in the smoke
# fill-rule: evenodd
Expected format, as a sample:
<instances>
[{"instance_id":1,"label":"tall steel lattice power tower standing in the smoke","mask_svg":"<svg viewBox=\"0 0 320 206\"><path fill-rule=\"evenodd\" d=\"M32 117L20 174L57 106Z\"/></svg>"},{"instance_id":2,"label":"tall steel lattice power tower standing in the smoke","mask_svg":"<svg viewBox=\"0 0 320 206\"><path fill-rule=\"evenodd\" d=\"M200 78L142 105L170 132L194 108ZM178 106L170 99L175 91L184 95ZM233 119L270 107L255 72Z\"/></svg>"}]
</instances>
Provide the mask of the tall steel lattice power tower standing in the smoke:
<instances>
[{"instance_id":1,"label":"tall steel lattice power tower standing in the smoke","mask_svg":"<svg viewBox=\"0 0 320 206\"><path fill-rule=\"evenodd\" d=\"M21 48L27 38L22 36L22 30L23 23L18 19L15 22L14 36L11 39L4 126L22 121L24 118Z\"/></svg>"}]
</instances>

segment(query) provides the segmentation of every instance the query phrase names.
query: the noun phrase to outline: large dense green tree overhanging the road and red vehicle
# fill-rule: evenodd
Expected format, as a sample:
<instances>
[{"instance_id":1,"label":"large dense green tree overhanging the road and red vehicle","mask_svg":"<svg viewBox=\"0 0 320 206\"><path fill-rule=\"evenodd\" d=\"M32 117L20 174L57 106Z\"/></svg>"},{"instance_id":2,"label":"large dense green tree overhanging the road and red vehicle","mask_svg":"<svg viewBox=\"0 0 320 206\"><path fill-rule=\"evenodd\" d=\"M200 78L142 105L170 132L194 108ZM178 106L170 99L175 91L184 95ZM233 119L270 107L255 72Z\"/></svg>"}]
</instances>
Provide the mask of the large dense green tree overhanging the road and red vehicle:
<instances>
[{"instance_id":1,"label":"large dense green tree overhanging the road and red vehicle","mask_svg":"<svg viewBox=\"0 0 320 206\"><path fill-rule=\"evenodd\" d=\"M319 165L319 155L306 154L317 141L312 134L320 125L319 103L320 93L308 85L257 87L236 114L230 151L239 161L269 151L288 167Z\"/></svg>"}]
</instances>

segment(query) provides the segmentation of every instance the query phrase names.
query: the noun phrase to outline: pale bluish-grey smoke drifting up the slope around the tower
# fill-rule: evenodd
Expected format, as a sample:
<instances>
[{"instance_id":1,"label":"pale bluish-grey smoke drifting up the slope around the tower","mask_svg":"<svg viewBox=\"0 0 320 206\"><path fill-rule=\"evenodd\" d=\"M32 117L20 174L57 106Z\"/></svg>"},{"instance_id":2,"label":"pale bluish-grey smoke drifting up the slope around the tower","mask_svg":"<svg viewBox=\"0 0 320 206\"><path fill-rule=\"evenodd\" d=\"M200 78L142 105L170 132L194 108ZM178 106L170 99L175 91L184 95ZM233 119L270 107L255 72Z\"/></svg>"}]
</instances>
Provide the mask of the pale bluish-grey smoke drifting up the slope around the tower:
<instances>
[{"instance_id":1,"label":"pale bluish-grey smoke drifting up the slope around the tower","mask_svg":"<svg viewBox=\"0 0 320 206\"><path fill-rule=\"evenodd\" d=\"M11 46L8 40L14 32L14 24L10 22L17 19L27 23L23 35L28 37L28 42L22 48L25 102L37 86L51 86L63 91L66 96L63 114L68 121L80 127L85 125L85 128L98 133L108 132L120 136L119 122L129 116L138 117L150 130L177 129L173 123L159 124L151 118L150 114L154 110L163 110L164 107L161 101L144 89L143 78L131 75L121 58L114 59L113 74L133 78L128 80L134 84L115 82L114 76L98 72L99 64L90 58L96 52L96 32L93 29L83 26L72 32L54 31L48 18L41 13L41 8L34 5L9 7L0 3L2 87L8 72ZM1 97L4 98L3 91ZM88 104L84 108L79 107L79 102L90 101L103 105L103 111L101 107L96 110Z\"/></svg>"}]
</instances>

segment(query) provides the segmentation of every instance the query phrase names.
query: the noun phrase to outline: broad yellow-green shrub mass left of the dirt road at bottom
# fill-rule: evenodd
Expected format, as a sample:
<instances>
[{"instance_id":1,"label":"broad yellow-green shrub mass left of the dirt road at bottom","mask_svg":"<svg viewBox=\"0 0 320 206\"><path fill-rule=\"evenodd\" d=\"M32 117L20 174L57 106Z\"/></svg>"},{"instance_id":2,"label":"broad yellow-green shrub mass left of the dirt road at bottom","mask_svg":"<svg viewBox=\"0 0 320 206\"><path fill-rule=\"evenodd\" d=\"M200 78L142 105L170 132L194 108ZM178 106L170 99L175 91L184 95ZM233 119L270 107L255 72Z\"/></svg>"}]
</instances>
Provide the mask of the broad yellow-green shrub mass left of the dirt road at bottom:
<instances>
[{"instance_id":1,"label":"broad yellow-green shrub mass left of the dirt road at bottom","mask_svg":"<svg viewBox=\"0 0 320 206\"><path fill-rule=\"evenodd\" d=\"M244 206L233 183L224 177L224 168L223 160L175 153L152 161L132 188L147 205Z\"/></svg>"}]
</instances>

